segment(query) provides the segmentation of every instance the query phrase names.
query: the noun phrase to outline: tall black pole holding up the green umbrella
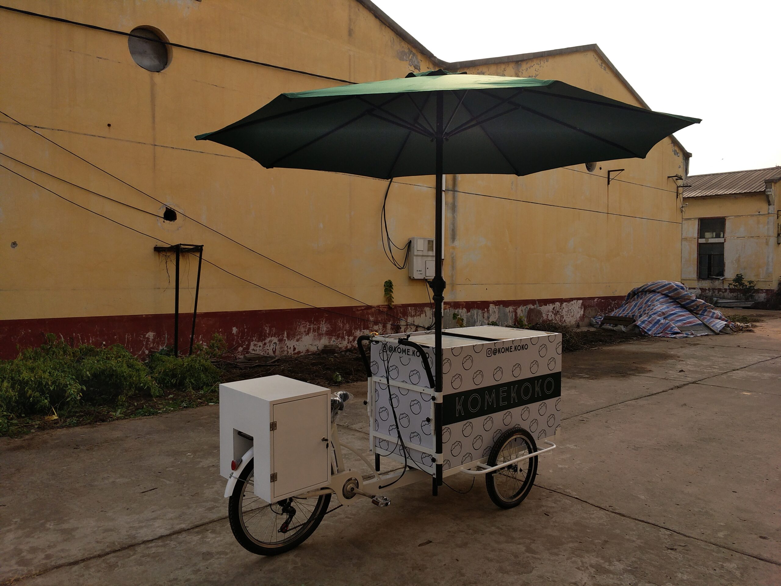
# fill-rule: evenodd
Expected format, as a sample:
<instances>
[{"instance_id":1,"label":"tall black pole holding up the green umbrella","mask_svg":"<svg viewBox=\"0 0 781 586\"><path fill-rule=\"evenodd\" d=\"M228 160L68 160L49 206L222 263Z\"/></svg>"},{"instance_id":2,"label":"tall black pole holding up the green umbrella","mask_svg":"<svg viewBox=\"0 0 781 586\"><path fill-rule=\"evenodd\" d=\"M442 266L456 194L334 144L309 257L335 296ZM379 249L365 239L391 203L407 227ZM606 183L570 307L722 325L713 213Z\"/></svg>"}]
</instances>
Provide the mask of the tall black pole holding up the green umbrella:
<instances>
[{"instance_id":1,"label":"tall black pole holding up the green umbrella","mask_svg":"<svg viewBox=\"0 0 781 586\"><path fill-rule=\"evenodd\" d=\"M434 180L437 227L435 229L434 249L437 261L434 263L434 278L431 280L434 302L434 438L435 452L437 452L437 473L432 481L432 494L437 496L437 487L442 485L442 302L444 302L445 282L442 277L442 265L444 264L444 234L442 230L442 147L444 143L444 127L442 123L444 95L437 91L437 161L435 169L437 175Z\"/></svg>"}]
</instances>

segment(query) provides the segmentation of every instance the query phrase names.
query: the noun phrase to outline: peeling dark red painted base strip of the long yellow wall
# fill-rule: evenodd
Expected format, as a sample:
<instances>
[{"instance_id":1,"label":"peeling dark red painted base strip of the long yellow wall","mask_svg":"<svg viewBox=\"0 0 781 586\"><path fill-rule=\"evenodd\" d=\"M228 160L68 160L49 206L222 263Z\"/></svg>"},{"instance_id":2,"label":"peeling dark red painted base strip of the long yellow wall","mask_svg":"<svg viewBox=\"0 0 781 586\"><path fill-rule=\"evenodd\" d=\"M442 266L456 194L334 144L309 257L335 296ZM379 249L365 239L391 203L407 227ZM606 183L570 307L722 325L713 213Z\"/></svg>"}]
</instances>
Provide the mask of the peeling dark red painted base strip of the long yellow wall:
<instances>
[{"instance_id":1,"label":"peeling dark red painted base strip of the long yellow wall","mask_svg":"<svg viewBox=\"0 0 781 586\"><path fill-rule=\"evenodd\" d=\"M455 327L452 314L458 313L466 326L483 325L494 320L514 323L522 315L530 323L554 320L565 323L588 322L590 317L606 313L623 297L572 299L528 299L499 302L448 302L445 327ZM383 311L398 316L397 323ZM339 315L343 314L343 315ZM206 342L212 334L221 334L234 352L244 354L294 354L314 352L323 345L348 348L360 334L372 331L391 333L414 331L405 321L428 326L430 306L410 304L381 307L334 307L326 309L259 309L256 311L201 313L196 321L195 341ZM401 325L399 325L399 323ZM179 348L187 352L192 315L180 315ZM146 356L164 346L173 345L173 314L139 316L56 317L38 320L0 320L0 358L11 359L19 348L41 345L45 334L62 336L70 344L122 344L137 356Z\"/></svg>"}]
</instances>

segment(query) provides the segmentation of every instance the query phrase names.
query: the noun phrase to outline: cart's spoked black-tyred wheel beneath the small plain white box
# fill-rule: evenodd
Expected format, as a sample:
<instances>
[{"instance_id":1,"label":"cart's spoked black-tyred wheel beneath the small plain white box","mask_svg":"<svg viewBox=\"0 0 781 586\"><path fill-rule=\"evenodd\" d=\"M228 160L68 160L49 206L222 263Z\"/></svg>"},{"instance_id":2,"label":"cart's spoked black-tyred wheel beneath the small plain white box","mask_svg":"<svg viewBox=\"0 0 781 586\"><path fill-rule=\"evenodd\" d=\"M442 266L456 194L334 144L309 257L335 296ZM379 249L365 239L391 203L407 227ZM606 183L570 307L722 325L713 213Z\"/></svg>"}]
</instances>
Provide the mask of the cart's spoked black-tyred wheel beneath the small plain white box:
<instances>
[{"instance_id":1,"label":"cart's spoked black-tyred wheel beneath the small plain white box","mask_svg":"<svg viewBox=\"0 0 781 586\"><path fill-rule=\"evenodd\" d=\"M285 498L270 504L255 495L255 462L250 460L228 498L234 537L249 552L276 556L301 545L323 520L331 495Z\"/></svg>"}]
</instances>

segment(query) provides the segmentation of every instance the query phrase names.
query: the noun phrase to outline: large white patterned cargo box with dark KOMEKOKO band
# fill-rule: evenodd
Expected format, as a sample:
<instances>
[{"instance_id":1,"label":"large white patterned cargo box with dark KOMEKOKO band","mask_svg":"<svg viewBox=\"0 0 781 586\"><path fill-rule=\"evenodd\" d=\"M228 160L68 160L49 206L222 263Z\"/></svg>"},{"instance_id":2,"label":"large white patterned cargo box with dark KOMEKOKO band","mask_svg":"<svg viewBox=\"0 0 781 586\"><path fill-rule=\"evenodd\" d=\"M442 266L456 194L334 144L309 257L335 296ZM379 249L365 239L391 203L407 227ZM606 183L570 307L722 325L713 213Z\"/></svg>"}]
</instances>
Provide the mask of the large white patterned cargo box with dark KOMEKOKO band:
<instances>
[{"instance_id":1,"label":"large white patterned cargo box with dark KOMEKOKO band","mask_svg":"<svg viewBox=\"0 0 781 586\"><path fill-rule=\"evenodd\" d=\"M399 342L414 342L420 352ZM562 420L562 334L511 327L442 331L442 451L434 424L434 334L374 336L369 369L369 446L380 456L444 476L486 463L502 432L521 427L537 448ZM544 446L542 446L544 447ZM410 462L410 460L412 462Z\"/></svg>"}]
</instances>

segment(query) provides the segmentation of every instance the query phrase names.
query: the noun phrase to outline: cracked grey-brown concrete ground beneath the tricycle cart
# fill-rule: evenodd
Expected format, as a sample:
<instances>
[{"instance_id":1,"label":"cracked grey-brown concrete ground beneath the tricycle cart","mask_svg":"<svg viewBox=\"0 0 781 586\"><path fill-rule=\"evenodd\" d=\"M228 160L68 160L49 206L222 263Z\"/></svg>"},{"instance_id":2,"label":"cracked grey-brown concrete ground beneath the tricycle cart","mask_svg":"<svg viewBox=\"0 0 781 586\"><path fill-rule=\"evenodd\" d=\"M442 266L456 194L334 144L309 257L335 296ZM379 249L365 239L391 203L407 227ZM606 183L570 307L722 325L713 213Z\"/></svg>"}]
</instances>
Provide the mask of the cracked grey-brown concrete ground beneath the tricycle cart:
<instances>
[{"instance_id":1,"label":"cracked grey-brown concrete ground beneath the tricycle cart","mask_svg":"<svg viewBox=\"0 0 781 586\"><path fill-rule=\"evenodd\" d=\"M230 533L216 406L2 439L0 584L781 584L768 315L753 333L565 355L560 447L516 509L482 480L437 498L412 484L273 558ZM359 446L364 388L340 430Z\"/></svg>"}]
</instances>

